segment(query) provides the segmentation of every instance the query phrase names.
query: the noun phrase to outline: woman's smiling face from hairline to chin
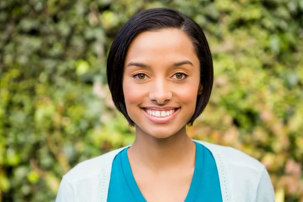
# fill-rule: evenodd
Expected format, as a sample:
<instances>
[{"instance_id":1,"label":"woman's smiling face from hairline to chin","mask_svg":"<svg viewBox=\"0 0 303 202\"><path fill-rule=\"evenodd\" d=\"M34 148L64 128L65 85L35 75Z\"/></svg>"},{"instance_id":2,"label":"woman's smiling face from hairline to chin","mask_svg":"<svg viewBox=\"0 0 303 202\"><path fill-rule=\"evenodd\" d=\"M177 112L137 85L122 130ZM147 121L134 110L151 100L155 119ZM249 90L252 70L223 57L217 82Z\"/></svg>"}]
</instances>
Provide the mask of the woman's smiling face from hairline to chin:
<instances>
[{"instance_id":1,"label":"woman's smiling face from hairline to chin","mask_svg":"<svg viewBox=\"0 0 303 202\"><path fill-rule=\"evenodd\" d=\"M167 138L185 129L195 111L199 79L200 63L183 31L139 34L123 72L125 105L137 132Z\"/></svg>"}]
</instances>

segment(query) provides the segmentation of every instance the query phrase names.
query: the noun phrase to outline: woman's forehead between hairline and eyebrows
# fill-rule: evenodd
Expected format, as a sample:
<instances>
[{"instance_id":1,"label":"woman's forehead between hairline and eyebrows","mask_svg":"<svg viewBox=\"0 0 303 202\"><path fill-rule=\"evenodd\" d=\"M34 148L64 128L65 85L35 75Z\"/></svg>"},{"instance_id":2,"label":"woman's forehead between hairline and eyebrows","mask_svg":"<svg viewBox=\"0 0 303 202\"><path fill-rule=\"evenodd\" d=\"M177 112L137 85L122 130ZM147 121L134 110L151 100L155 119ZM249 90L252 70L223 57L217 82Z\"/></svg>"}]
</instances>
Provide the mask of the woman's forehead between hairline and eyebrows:
<instances>
[{"instance_id":1,"label":"woman's forehead between hairline and eyebrows","mask_svg":"<svg viewBox=\"0 0 303 202\"><path fill-rule=\"evenodd\" d=\"M179 29L163 29L140 33L130 44L126 61L133 59L164 59L196 57L192 41ZM180 59L181 59L180 58Z\"/></svg>"}]
</instances>

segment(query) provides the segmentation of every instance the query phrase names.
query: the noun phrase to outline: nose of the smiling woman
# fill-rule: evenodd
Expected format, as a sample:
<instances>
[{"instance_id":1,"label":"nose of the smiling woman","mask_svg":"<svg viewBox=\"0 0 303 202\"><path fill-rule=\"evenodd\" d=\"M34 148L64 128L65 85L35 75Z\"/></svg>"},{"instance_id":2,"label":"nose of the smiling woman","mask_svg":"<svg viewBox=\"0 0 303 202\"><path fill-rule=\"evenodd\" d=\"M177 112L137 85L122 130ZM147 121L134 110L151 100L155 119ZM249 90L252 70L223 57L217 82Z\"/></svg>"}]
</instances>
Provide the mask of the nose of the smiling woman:
<instances>
[{"instance_id":1,"label":"nose of the smiling woman","mask_svg":"<svg viewBox=\"0 0 303 202\"><path fill-rule=\"evenodd\" d=\"M173 97L173 93L165 81L158 80L154 82L154 85L150 86L148 97L150 100L156 101L159 105L164 105Z\"/></svg>"}]
</instances>

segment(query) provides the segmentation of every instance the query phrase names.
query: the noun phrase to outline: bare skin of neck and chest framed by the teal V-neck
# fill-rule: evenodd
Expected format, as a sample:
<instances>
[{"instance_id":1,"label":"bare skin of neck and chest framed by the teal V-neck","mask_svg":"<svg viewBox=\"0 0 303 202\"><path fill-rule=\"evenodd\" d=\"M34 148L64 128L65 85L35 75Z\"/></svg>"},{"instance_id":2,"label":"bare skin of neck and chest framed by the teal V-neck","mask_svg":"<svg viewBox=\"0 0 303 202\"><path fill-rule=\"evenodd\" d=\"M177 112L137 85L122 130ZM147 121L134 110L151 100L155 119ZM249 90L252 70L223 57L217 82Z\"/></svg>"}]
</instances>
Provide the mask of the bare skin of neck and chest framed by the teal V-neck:
<instances>
[{"instance_id":1,"label":"bare skin of neck and chest framed by the teal V-neck","mask_svg":"<svg viewBox=\"0 0 303 202\"><path fill-rule=\"evenodd\" d=\"M184 201L187 196L194 172L195 144L182 131L175 136L145 142L137 135L128 149L134 178L148 202Z\"/></svg>"}]
</instances>

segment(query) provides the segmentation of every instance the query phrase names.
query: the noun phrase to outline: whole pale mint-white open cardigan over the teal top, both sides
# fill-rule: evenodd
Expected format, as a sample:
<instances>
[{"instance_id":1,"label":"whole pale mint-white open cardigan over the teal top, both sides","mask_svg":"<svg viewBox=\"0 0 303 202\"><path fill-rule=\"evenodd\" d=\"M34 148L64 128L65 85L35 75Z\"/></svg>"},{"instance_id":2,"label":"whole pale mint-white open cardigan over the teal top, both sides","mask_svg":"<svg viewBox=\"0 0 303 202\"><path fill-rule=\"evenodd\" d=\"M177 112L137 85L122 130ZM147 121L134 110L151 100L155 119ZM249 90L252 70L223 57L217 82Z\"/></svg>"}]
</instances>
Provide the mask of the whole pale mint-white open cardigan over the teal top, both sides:
<instances>
[{"instance_id":1,"label":"whole pale mint-white open cardigan over the teal top, both sides","mask_svg":"<svg viewBox=\"0 0 303 202\"><path fill-rule=\"evenodd\" d=\"M259 161L232 147L194 141L206 146L215 158L223 202L275 200L268 172ZM112 163L122 149L84 161L71 169L63 176L56 201L107 201Z\"/></svg>"}]
</instances>

